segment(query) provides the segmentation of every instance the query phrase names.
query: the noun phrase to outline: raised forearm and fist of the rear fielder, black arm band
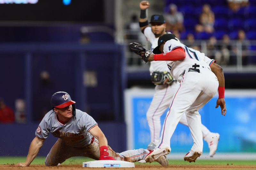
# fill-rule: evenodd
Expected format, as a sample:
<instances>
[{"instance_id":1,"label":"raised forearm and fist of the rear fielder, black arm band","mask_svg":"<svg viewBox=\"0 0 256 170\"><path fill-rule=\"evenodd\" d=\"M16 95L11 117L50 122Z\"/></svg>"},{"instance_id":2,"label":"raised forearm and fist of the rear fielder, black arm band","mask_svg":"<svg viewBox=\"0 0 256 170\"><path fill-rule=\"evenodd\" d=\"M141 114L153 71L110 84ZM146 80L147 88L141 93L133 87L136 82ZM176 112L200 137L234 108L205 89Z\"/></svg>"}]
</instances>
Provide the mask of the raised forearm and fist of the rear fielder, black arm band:
<instances>
[{"instance_id":1,"label":"raised forearm and fist of the rear fielder, black arm band","mask_svg":"<svg viewBox=\"0 0 256 170\"><path fill-rule=\"evenodd\" d=\"M148 18L146 15L146 10L149 8L150 4L148 1L141 1L140 2L140 19L139 19L139 24L140 24L140 30L142 33L144 33L144 29L148 27Z\"/></svg>"}]
</instances>

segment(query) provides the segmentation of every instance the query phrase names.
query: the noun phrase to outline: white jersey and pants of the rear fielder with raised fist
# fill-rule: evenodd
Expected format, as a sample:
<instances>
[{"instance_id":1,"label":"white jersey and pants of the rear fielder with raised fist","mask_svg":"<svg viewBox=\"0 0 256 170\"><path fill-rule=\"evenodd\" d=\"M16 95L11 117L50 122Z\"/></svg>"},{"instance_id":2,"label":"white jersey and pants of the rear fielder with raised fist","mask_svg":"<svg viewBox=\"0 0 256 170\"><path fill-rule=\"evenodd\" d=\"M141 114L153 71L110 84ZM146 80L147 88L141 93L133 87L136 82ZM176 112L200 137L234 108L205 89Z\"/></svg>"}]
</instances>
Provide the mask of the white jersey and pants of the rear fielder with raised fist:
<instances>
[{"instance_id":1,"label":"white jersey and pants of the rear fielder with raised fist","mask_svg":"<svg viewBox=\"0 0 256 170\"><path fill-rule=\"evenodd\" d=\"M168 32L171 33L171 32ZM148 41L151 43L151 51L158 45L158 38L155 37L155 34L152 32L151 27L146 27L144 29L144 35ZM169 61L168 61L169 62ZM167 61L151 61L150 62L150 73L154 71L170 71L167 67ZM172 85L156 85L155 94L150 103L150 106L147 111L147 120L150 130L151 141L158 143L161 132L161 121L160 117L164 114L164 111L169 107L172 97L178 89L180 83L174 81ZM180 122L188 126L188 122L185 114L182 115ZM205 138L210 131L201 124L203 137Z\"/></svg>"}]
</instances>

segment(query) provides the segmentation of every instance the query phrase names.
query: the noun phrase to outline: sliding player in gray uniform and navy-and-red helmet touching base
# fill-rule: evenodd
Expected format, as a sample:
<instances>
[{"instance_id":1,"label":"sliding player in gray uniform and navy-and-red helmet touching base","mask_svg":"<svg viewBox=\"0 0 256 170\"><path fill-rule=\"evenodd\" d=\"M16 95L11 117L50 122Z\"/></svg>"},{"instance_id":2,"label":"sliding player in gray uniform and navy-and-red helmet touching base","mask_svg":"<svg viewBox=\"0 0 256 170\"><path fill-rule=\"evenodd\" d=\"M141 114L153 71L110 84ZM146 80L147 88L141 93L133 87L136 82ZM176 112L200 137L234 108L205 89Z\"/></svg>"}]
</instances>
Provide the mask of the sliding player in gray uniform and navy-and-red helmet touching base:
<instances>
[{"instance_id":1,"label":"sliding player in gray uniform and navy-and-red helmet touching base","mask_svg":"<svg viewBox=\"0 0 256 170\"><path fill-rule=\"evenodd\" d=\"M108 141L95 120L87 113L76 109L75 103L66 92L57 92L52 95L52 110L45 114L37 127L36 137L30 144L26 161L17 163L15 166L29 166L50 132L59 139L52 146L45 159L46 166L57 166L73 156L128 162L145 159L146 155L150 152L149 148L122 153L114 152L108 146ZM162 162L162 160L165 162ZM164 166L167 164L164 159L159 160L159 163Z\"/></svg>"}]
</instances>

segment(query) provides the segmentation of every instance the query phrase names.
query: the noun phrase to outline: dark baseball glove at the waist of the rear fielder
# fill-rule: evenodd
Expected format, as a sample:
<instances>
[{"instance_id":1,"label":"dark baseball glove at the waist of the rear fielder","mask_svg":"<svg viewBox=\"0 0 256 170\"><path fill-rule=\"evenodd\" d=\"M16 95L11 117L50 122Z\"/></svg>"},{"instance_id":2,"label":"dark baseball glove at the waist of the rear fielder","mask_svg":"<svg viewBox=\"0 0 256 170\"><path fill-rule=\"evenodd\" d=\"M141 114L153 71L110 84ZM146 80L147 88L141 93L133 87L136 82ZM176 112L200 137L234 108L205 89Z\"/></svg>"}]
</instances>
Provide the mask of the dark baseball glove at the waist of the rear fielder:
<instances>
[{"instance_id":1,"label":"dark baseball glove at the waist of the rear fielder","mask_svg":"<svg viewBox=\"0 0 256 170\"><path fill-rule=\"evenodd\" d=\"M167 71L164 71L164 72L154 71L151 74L152 83L157 84L157 85L162 85L166 78L169 80L166 82L167 84L171 84L173 81L175 81L172 78L171 74Z\"/></svg>"}]
</instances>

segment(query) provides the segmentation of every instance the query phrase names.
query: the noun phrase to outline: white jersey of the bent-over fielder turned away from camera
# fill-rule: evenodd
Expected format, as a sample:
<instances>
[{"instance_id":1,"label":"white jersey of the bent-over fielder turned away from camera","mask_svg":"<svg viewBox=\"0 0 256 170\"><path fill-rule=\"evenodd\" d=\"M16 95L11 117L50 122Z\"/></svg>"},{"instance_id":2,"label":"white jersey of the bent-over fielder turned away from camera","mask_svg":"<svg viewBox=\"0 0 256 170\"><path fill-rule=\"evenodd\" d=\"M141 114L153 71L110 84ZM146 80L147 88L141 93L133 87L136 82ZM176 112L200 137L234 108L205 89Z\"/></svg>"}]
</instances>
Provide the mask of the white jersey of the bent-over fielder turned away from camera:
<instances>
[{"instance_id":1,"label":"white jersey of the bent-over fielder turned away from camera","mask_svg":"<svg viewBox=\"0 0 256 170\"><path fill-rule=\"evenodd\" d=\"M188 48L175 39L168 40L164 44L164 53L168 53L177 47L182 47L185 50L186 57L182 60L167 61L171 75L174 79L180 82L182 80L182 73L185 71L185 69L192 67L192 65L195 64L211 70L210 65L214 61L213 59L209 59L204 55L204 53L200 53L197 50Z\"/></svg>"}]
</instances>

